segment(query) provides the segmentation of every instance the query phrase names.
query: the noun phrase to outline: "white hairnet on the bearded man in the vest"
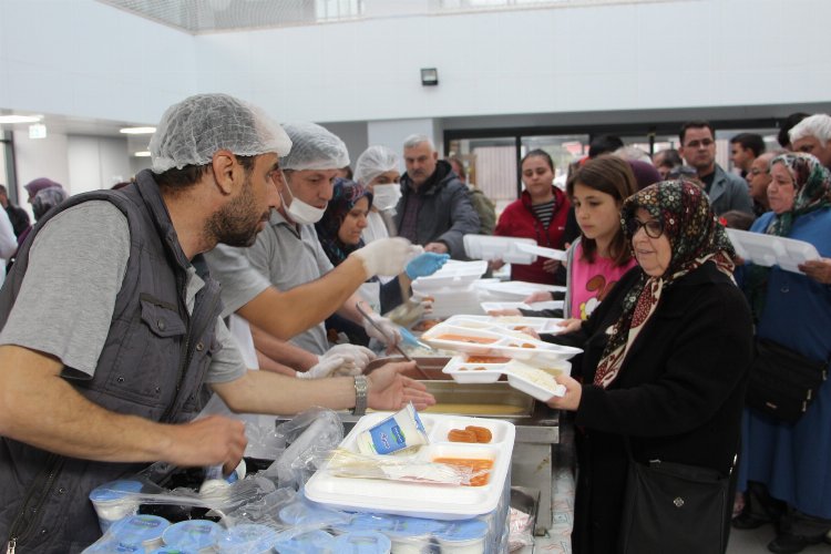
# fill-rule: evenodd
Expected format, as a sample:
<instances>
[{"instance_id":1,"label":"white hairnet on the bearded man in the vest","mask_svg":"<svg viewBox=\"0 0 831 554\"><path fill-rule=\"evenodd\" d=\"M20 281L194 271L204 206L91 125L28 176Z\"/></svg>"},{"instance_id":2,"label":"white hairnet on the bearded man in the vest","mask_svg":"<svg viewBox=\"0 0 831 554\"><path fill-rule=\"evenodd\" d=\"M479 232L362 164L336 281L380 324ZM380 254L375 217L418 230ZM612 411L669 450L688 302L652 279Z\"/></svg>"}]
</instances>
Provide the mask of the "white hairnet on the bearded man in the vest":
<instances>
[{"instance_id":1,"label":"white hairnet on the bearded man in the vest","mask_svg":"<svg viewBox=\"0 0 831 554\"><path fill-rule=\"evenodd\" d=\"M208 164L219 150L285 156L291 141L263 110L227 94L197 94L172 105L150 140L155 173Z\"/></svg>"}]
</instances>

